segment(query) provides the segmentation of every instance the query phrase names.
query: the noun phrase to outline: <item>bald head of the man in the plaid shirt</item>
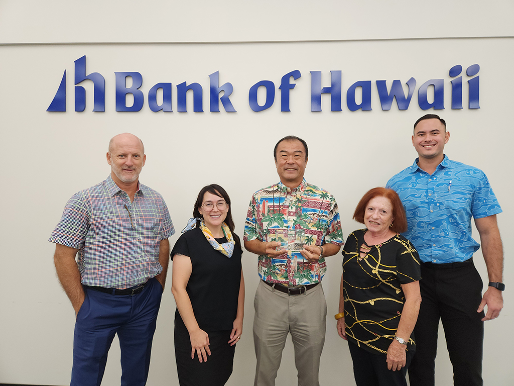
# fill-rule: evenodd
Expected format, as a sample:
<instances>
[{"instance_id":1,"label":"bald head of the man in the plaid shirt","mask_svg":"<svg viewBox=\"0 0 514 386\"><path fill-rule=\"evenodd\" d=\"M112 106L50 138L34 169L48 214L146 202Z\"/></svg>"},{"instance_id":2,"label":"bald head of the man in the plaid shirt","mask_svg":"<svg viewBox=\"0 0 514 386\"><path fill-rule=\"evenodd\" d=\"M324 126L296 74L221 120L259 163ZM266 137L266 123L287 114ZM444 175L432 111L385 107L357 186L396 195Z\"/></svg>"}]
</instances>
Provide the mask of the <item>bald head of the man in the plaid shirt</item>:
<instances>
[{"instance_id":1,"label":"bald head of the man in the plaid shirt","mask_svg":"<svg viewBox=\"0 0 514 386\"><path fill-rule=\"evenodd\" d=\"M123 133L111 139L107 163L111 165L111 176L118 186L137 183L145 161L143 144L135 135Z\"/></svg>"}]
</instances>

